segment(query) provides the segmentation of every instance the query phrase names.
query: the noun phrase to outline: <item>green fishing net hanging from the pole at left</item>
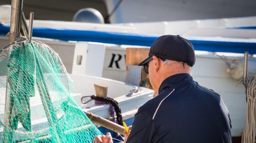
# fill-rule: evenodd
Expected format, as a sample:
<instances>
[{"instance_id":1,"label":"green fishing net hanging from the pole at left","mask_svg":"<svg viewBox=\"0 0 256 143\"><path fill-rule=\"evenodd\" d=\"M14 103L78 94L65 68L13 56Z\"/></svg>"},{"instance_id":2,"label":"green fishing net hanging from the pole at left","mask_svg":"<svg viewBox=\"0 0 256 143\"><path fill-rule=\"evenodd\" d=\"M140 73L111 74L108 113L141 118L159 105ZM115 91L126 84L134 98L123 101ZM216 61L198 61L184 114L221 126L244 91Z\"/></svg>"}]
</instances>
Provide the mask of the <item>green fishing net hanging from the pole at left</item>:
<instances>
[{"instance_id":1,"label":"green fishing net hanging from the pole at left","mask_svg":"<svg viewBox=\"0 0 256 143\"><path fill-rule=\"evenodd\" d=\"M0 50L0 142L93 142L102 133L76 98L47 45L21 41Z\"/></svg>"}]
</instances>

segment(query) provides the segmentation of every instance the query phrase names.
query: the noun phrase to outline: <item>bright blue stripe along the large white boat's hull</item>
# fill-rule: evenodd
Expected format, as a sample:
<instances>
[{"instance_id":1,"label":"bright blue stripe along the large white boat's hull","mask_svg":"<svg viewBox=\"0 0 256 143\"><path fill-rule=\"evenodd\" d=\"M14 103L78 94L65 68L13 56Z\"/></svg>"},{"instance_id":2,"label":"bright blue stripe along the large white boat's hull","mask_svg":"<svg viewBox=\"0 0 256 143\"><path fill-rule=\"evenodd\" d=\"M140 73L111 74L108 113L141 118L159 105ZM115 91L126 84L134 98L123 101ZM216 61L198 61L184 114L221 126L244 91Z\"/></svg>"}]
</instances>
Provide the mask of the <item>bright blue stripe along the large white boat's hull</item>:
<instances>
[{"instance_id":1,"label":"bright blue stripe along the large white boat's hull","mask_svg":"<svg viewBox=\"0 0 256 143\"><path fill-rule=\"evenodd\" d=\"M6 35L10 27L0 24L0 35ZM41 38L53 38L62 41L87 41L112 44L126 44L133 46L148 46L156 40L158 36L128 34L121 32L89 31L89 30L68 30L51 28L33 28L33 36ZM227 53L256 54L256 42L241 41L209 41L187 38L191 41L195 50Z\"/></svg>"}]
</instances>

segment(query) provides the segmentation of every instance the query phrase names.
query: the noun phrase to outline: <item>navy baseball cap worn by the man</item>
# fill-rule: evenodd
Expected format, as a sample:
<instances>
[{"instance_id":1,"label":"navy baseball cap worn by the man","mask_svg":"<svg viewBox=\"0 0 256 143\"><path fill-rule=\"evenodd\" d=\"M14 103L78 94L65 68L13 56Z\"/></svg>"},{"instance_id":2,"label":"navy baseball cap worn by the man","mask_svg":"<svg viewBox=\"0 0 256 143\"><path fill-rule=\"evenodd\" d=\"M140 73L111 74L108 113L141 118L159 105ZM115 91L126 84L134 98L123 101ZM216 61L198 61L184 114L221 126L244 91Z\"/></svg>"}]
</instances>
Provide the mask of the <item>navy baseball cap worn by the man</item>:
<instances>
[{"instance_id":1,"label":"navy baseball cap worn by the man","mask_svg":"<svg viewBox=\"0 0 256 143\"><path fill-rule=\"evenodd\" d=\"M151 61L155 55L161 59L185 62L191 67L196 62L194 47L192 43L179 35L163 35L156 39L149 50L149 57L143 60L138 66Z\"/></svg>"}]
</instances>

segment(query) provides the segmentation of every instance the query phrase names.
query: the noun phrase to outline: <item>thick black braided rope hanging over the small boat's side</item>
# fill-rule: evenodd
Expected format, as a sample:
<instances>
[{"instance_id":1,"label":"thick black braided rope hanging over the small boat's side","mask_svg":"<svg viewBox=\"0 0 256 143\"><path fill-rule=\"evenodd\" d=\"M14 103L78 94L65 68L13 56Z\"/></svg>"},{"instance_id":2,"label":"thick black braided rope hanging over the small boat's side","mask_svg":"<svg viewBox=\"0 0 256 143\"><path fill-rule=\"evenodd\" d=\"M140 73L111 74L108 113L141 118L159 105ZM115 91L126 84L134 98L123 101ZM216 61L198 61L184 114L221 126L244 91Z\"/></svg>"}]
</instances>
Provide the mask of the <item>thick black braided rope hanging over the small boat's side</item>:
<instances>
[{"instance_id":1,"label":"thick black braided rope hanging over the small boat's side","mask_svg":"<svg viewBox=\"0 0 256 143\"><path fill-rule=\"evenodd\" d=\"M101 98L101 97L97 97L95 95L90 96L91 99L93 100L97 100L97 101L104 101L107 103L111 103L111 105L114 106L114 110L115 110L115 114L117 114L117 123L121 126L123 126L123 117L121 114L121 109L119 108L118 102L115 101L112 98Z\"/></svg>"}]
</instances>

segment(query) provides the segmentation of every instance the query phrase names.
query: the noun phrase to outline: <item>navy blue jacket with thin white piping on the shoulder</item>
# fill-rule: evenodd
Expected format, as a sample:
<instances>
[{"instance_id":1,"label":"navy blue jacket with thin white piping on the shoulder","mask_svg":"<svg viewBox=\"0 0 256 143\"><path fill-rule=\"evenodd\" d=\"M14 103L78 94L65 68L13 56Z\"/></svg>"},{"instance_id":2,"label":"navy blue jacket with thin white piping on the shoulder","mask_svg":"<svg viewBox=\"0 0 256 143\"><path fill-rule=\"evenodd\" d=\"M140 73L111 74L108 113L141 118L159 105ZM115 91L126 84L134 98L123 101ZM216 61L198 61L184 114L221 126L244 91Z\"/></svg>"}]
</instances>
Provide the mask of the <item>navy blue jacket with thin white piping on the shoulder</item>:
<instances>
[{"instance_id":1,"label":"navy blue jacket with thin white piping on the shoulder","mask_svg":"<svg viewBox=\"0 0 256 143\"><path fill-rule=\"evenodd\" d=\"M231 142L222 97L189 74L164 80L159 95L138 109L127 142Z\"/></svg>"}]
</instances>

